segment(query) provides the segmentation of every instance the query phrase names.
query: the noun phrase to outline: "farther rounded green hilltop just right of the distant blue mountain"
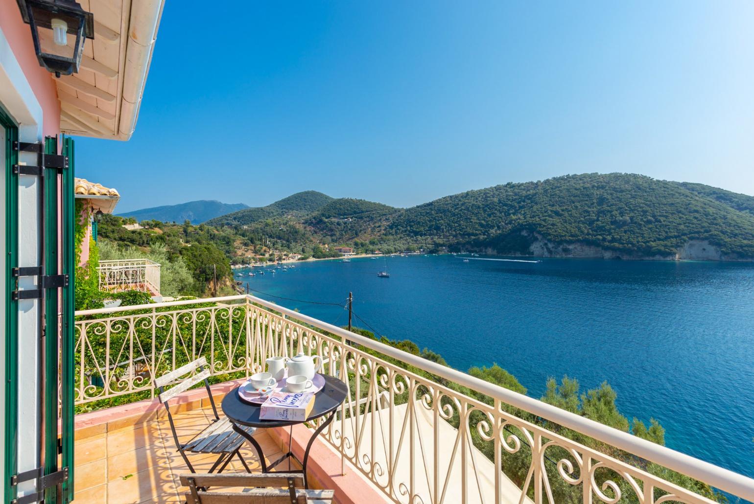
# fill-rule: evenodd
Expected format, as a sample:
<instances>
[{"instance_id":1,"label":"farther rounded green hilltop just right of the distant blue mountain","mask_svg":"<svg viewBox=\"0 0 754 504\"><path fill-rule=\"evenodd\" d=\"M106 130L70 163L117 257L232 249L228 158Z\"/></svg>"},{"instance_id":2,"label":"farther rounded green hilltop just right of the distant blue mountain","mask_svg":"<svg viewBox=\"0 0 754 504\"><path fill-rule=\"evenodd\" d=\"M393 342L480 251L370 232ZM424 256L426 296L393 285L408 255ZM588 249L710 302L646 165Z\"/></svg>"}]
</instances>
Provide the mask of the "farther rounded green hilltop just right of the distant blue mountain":
<instances>
[{"instance_id":1,"label":"farther rounded green hilltop just right of the distant blue mountain","mask_svg":"<svg viewBox=\"0 0 754 504\"><path fill-rule=\"evenodd\" d=\"M239 212L222 215L219 218L213 218L207 221L207 224L214 226L250 225L253 222L276 217L303 217L317 211L332 200L332 197L317 191L302 191L267 206L247 208Z\"/></svg>"}]
</instances>

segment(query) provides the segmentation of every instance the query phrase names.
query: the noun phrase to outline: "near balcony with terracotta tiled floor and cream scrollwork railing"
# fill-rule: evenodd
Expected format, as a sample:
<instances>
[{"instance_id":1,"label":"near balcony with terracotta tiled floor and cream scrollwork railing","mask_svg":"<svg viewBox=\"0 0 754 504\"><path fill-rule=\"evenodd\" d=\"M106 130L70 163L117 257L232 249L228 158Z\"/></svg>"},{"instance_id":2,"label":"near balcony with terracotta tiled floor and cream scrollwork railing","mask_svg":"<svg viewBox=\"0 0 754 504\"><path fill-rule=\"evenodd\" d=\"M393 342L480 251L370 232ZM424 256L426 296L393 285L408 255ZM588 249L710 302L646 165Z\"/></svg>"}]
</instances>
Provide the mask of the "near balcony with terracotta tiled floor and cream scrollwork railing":
<instances>
[{"instance_id":1,"label":"near balcony with terracotta tiled floor and cream scrollwork railing","mask_svg":"<svg viewBox=\"0 0 754 504\"><path fill-rule=\"evenodd\" d=\"M269 356L304 352L348 385L308 468L315 487L333 488L339 502L713 502L697 493L702 485L666 481L672 472L754 500L751 478L253 296L76 316L76 405L107 408L76 420L77 457L91 455L75 468L82 497L178 502L185 491L153 376L204 356L219 403ZM180 396L179 435L207 420L206 397L201 388ZM293 429L294 452L306 432ZM259 429L255 438L274 459L288 435ZM253 450L244 457L259 469Z\"/></svg>"}]
</instances>

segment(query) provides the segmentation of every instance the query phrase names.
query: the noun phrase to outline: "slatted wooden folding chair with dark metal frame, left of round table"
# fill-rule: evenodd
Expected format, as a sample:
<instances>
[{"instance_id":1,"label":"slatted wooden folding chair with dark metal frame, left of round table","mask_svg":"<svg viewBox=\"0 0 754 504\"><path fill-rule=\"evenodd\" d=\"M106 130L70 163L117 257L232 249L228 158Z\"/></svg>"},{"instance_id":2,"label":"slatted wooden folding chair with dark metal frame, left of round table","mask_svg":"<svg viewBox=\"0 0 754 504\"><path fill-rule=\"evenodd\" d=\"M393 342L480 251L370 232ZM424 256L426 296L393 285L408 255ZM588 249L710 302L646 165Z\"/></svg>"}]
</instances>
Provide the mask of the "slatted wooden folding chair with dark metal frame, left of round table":
<instances>
[{"instance_id":1,"label":"slatted wooden folding chair with dark metal frame, left of round table","mask_svg":"<svg viewBox=\"0 0 754 504\"><path fill-rule=\"evenodd\" d=\"M194 371L196 371L196 373L193 376L179 381L180 377L182 377L184 374L189 374ZM246 460L244 460L244 457L241 457L241 454L238 452L241 449L241 446L244 444L244 437L233 430L233 424L230 420L228 420L228 418L224 417L222 418L222 420L220 420L220 417L217 415L215 400L213 399L212 392L210 391L210 381L207 380L209 376L210 370L207 368L207 359L201 357L199 359L196 359L194 362L189 362L189 364L186 364L176 369L175 371L170 371L170 373L155 378L155 385L159 389L158 398L160 399L160 402L165 405L165 409L167 410L167 420L170 422L170 430L173 431L173 440L176 441L176 447L178 448L181 457L183 457L183 460L185 460L186 465L189 466L189 471L191 472L195 472L195 470L194 466L192 466L192 463L189 461L189 457L186 456L187 453L218 454L219 457L213 464L210 472L214 472L215 469L218 468L218 466L219 472L222 472L222 470L225 469L225 466L227 466L231 461L231 458L236 455L238 456L238 459L241 460L241 463L244 464L244 468L247 470L247 472L251 472L251 469L249 469ZM195 386L202 380L204 380L204 386L205 388L207 388L207 396L210 398L210 404L212 405L212 411L215 414L215 419L212 420L207 427L202 429L201 432L198 432L197 435L191 438L189 442L181 444L178 439L178 434L176 433L176 426L173 422L173 415L170 413L170 407L168 406L167 402L170 399L173 399L179 393L185 392L192 386ZM177 384L170 389L165 390L165 386L172 383ZM242 428L249 434L253 434L255 430L253 427Z\"/></svg>"}]
</instances>

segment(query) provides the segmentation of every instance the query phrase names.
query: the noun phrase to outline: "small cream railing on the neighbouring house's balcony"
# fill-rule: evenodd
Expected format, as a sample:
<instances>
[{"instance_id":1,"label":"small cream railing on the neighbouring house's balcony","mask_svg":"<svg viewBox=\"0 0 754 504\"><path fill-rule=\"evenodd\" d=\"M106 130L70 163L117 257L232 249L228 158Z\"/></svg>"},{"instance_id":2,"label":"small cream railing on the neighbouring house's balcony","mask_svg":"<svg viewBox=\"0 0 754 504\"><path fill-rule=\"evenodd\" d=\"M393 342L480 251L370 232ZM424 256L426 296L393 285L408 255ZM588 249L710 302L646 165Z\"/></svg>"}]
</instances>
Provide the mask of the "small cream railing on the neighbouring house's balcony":
<instances>
[{"instance_id":1,"label":"small cream railing on the neighbouring house's balcony","mask_svg":"<svg viewBox=\"0 0 754 504\"><path fill-rule=\"evenodd\" d=\"M160 293L160 264L149 259L100 261L100 290Z\"/></svg>"}]
</instances>

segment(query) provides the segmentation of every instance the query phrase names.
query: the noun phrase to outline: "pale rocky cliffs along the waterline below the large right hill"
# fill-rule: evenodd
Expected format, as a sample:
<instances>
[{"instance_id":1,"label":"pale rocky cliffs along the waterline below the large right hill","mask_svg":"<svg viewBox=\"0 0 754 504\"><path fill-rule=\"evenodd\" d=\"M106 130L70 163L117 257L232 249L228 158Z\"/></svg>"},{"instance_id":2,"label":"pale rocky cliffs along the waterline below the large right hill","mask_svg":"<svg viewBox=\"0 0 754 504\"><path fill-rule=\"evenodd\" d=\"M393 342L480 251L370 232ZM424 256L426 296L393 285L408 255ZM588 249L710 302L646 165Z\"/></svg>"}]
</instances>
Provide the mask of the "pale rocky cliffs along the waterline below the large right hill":
<instances>
[{"instance_id":1,"label":"pale rocky cliffs along the waterline below the large right hill","mask_svg":"<svg viewBox=\"0 0 754 504\"><path fill-rule=\"evenodd\" d=\"M529 234L524 231L524 236ZM494 254L492 250L486 251ZM633 252L619 252L587 243L552 243L541 235L534 234L534 243L529 252L535 257L563 257L563 258L602 258L628 259L644 261L751 261L751 259L724 255L720 249L706 240L689 240L675 254L641 255Z\"/></svg>"}]
</instances>

